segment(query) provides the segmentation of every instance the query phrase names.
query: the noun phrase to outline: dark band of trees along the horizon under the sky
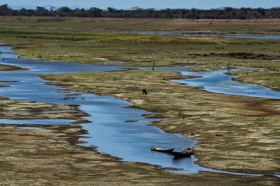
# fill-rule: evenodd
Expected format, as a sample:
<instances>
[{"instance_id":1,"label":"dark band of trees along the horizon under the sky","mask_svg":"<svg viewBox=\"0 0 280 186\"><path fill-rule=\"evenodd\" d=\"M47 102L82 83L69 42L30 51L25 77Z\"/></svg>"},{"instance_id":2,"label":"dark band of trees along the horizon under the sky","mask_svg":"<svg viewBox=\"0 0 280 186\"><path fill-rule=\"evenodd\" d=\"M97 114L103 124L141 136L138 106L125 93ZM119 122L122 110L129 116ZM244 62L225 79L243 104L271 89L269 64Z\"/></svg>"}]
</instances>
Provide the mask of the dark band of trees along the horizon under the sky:
<instances>
[{"instance_id":1,"label":"dark band of trees along the horizon under the sky","mask_svg":"<svg viewBox=\"0 0 280 186\"><path fill-rule=\"evenodd\" d=\"M222 7L209 10L197 8L166 8L156 10L155 8L132 7L131 10L117 10L108 7L102 10L97 7L89 9L71 9L67 6L60 8L37 7L34 9L21 8L13 10L8 4L0 6L0 15L9 16L50 16L50 17L132 17L132 18L174 18L174 19L273 19L280 18L280 7L274 8L232 8Z\"/></svg>"}]
</instances>

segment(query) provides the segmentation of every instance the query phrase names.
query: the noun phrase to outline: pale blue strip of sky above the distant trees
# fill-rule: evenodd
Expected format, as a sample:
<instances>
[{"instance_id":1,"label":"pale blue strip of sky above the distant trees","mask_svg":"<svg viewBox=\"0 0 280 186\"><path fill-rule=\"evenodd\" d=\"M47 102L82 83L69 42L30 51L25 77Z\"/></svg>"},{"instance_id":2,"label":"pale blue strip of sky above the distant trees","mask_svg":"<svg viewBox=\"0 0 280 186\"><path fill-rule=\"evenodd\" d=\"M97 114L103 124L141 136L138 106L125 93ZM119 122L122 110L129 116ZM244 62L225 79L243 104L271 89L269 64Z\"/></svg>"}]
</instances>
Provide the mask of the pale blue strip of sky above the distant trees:
<instances>
[{"instance_id":1,"label":"pale blue strip of sky above the distant trees","mask_svg":"<svg viewBox=\"0 0 280 186\"><path fill-rule=\"evenodd\" d=\"M271 8L280 6L280 0L0 0L0 4L8 4L11 8L19 9L36 8L37 6L68 6L78 8L98 7L105 9L113 7L117 9L130 9L133 6L141 8L219 8L230 6L235 8Z\"/></svg>"}]
</instances>

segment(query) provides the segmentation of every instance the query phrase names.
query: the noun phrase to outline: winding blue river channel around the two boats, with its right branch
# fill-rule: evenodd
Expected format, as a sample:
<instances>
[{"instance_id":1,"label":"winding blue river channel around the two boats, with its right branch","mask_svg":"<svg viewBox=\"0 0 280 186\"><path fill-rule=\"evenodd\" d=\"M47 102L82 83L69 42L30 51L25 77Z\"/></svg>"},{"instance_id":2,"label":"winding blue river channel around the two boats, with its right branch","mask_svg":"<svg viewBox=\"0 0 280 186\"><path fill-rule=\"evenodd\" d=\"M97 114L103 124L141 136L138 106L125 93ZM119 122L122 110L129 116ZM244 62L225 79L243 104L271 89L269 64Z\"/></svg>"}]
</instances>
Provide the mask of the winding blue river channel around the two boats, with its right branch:
<instances>
[{"instance_id":1,"label":"winding blue river channel around the two boats, with its right branch","mask_svg":"<svg viewBox=\"0 0 280 186\"><path fill-rule=\"evenodd\" d=\"M74 73L87 71L115 71L121 70L120 66L105 66L95 64L83 63L69 63L69 62L52 62L40 61L19 58L12 54L12 50L6 47L0 47L2 52L0 59L5 58L9 60L1 61L2 64L15 65L19 67L28 68L28 71L1 71L1 80L20 81L15 83L1 83L9 85L9 87L1 87L0 95L6 96L10 99L23 101L37 101L56 104L75 104L80 105L80 110L90 114L90 117L85 117L89 121L88 124L80 124L85 130L88 130L87 135L90 138L82 138L86 141L84 146L98 146L100 153L111 154L123 159L123 161L132 162L146 162L150 164L160 165L162 167L178 168L177 171L171 172L180 173L198 173L199 171L218 171L200 167L194 163L197 159L194 156L191 158L175 159L172 155L150 151L150 146L159 147L176 147L187 148L190 145L195 146L196 141L182 137L178 134L164 133L161 129L147 125L156 119L147 119L143 117L144 114L149 114L144 110L123 108L131 103L114 98L113 96L100 96L95 94L88 94L84 92L73 93L82 94L75 96L75 100L62 100L63 93L59 93L62 87L53 85L45 85L49 82L34 76L36 74L59 74L59 73ZM139 68L139 67L125 67L125 68ZM141 67L141 69L149 67ZM259 85L239 83L231 81L233 76L225 75L224 72L228 69L208 72L191 72L186 71L190 68L173 68L173 67L157 67L159 70L173 70L180 71L183 75L198 75L202 78L173 80L176 82L187 83L186 86L202 86L204 90L215 93L234 94L243 96L255 96L265 98L280 98L280 92L262 87ZM230 69L238 70L238 69ZM60 112L60 111L45 111L45 112ZM124 121L136 120L137 122L127 123ZM74 120L67 119L29 119L29 120L10 120L0 119L3 124L69 124ZM23 128L24 129L24 128ZM249 175L250 174L244 174ZM251 175L253 176L253 175ZM255 175L258 176L258 175Z\"/></svg>"}]
</instances>

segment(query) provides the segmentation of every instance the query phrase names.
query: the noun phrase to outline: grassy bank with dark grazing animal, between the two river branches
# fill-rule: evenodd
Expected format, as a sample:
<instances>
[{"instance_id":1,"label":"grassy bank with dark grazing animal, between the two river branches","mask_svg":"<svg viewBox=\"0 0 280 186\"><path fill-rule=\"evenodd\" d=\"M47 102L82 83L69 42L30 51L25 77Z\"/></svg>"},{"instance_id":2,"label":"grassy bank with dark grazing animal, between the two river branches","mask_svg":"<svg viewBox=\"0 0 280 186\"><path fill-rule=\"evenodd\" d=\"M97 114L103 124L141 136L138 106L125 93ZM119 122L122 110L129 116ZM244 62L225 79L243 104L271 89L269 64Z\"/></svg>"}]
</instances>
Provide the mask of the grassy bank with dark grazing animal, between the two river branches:
<instances>
[{"instance_id":1,"label":"grassy bank with dark grazing animal, between the two river branches","mask_svg":"<svg viewBox=\"0 0 280 186\"><path fill-rule=\"evenodd\" d=\"M157 121L154 125L165 132L198 140L200 147L195 148L195 155L199 165L243 173L279 171L279 100L214 94L178 86L168 79L189 77L172 71L129 69L44 76L58 81L52 83L57 86L112 95L132 102L129 107L157 112L147 117L177 118ZM148 95L142 94L143 88Z\"/></svg>"}]
</instances>

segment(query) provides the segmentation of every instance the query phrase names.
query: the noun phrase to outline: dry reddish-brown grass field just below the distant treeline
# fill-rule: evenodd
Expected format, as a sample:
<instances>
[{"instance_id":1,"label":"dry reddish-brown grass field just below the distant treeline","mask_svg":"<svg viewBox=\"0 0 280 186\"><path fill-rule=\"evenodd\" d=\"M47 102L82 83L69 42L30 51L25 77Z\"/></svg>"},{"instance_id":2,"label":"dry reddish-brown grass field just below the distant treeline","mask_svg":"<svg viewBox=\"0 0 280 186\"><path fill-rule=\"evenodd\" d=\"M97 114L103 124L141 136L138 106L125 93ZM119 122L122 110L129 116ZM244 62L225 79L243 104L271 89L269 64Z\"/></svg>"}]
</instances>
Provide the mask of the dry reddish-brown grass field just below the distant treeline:
<instances>
[{"instance_id":1,"label":"dry reddish-brown grass field just below the distant treeline","mask_svg":"<svg viewBox=\"0 0 280 186\"><path fill-rule=\"evenodd\" d=\"M279 32L280 19L141 19L141 18L78 18L78 17L24 17L1 16L2 28L48 28L63 30L127 30L132 31L184 31L184 32Z\"/></svg>"}]
</instances>

